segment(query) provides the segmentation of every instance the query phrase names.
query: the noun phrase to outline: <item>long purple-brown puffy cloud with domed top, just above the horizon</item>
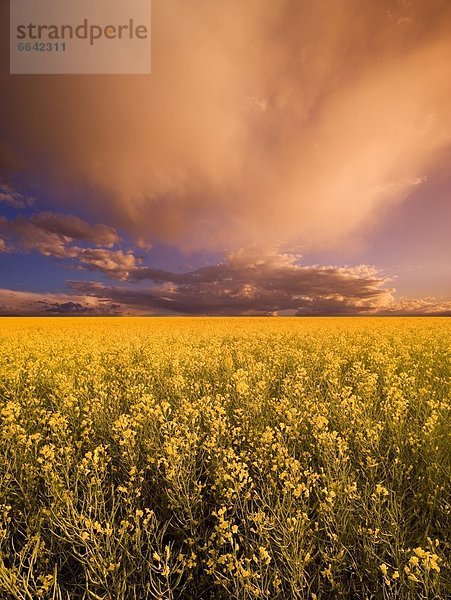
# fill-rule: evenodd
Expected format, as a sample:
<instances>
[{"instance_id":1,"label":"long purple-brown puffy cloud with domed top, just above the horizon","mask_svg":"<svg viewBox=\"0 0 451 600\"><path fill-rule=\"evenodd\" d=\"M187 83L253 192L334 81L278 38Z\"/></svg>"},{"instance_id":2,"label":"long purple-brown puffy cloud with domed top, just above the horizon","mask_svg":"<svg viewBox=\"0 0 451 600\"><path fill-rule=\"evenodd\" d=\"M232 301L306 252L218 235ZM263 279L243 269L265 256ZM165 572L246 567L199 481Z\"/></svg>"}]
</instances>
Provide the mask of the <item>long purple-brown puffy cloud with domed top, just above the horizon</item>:
<instances>
[{"instance_id":1,"label":"long purple-brown puffy cloud with domed top, just above the horizon","mask_svg":"<svg viewBox=\"0 0 451 600\"><path fill-rule=\"evenodd\" d=\"M72 281L77 293L116 302L128 310L180 314L371 314L393 302L388 280L368 266L302 266L299 257L254 249L215 266L186 273L138 267L131 280L146 288Z\"/></svg>"}]
</instances>

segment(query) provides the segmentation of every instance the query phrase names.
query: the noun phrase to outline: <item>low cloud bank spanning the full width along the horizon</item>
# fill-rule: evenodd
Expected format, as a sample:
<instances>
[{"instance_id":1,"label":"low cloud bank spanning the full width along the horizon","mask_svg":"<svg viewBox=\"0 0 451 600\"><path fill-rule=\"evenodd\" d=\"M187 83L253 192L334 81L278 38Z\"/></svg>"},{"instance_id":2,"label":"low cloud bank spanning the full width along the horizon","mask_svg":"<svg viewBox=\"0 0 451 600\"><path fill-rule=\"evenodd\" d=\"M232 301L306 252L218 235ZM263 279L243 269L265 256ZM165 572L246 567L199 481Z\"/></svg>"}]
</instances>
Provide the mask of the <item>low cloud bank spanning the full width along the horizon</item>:
<instances>
[{"instance_id":1,"label":"low cloud bank spanning the full width along the horizon","mask_svg":"<svg viewBox=\"0 0 451 600\"><path fill-rule=\"evenodd\" d=\"M389 284L367 265L306 266L296 254L246 248L217 265L185 273L138 266L121 285L69 281L66 294L0 290L0 313L451 315L451 299L396 299Z\"/></svg>"}]
</instances>

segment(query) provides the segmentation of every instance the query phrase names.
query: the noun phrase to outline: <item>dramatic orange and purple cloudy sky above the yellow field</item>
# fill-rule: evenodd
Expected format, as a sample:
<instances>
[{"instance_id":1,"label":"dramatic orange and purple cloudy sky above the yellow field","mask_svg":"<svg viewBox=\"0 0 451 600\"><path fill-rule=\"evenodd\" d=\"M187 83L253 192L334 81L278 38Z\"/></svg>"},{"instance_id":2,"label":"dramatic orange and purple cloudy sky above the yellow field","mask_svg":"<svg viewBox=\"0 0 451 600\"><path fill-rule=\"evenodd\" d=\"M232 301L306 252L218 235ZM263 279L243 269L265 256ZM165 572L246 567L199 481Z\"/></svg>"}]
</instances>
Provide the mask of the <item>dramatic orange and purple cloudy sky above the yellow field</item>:
<instances>
[{"instance_id":1,"label":"dramatic orange and purple cloudy sky above the yellow field","mask_svg":"<svg viewBox=\"0 0 451 600\"><path fill-rule=\"evenodd\" d=\"M153 0L150 75L10 75L0 314L451 315L451 3Z\"/></svg>"}]
</instances>

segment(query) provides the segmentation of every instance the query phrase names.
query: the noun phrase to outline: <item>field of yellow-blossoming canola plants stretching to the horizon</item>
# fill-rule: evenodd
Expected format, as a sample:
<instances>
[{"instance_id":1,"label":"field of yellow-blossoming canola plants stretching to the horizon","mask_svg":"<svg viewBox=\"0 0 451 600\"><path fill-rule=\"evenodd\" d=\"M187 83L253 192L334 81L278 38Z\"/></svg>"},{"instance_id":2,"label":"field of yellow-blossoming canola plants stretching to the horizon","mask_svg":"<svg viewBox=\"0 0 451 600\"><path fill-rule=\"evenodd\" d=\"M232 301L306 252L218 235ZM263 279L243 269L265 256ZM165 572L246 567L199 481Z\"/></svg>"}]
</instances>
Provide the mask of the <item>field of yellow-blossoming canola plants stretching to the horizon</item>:
<instances>
[{"instance_id":1,"label":"field of yellow-blossoming canola plants stretching to the horizon","mask_svg":"<svg viewBox=\"0 0 451 600\"><path fill-rule=\"evenodd\" d=\"M450 598L450 324L0 319L0 598Z\"/></svg>"}]
</instances>

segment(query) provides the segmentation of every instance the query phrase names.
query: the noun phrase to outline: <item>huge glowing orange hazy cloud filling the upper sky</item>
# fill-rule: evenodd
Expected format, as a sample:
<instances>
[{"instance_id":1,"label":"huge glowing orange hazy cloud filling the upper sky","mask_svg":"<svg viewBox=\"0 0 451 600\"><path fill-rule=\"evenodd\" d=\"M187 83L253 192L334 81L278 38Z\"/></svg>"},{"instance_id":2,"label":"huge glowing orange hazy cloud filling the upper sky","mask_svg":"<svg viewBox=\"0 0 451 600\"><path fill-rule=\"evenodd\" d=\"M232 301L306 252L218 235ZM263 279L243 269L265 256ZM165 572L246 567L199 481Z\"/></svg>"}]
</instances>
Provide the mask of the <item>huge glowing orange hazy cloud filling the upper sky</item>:
<instances>
[{"instance_id":1,"label":"huge glowing orange hazy cloud filling the upper sky","mask_svg":"<svg viewBox=\"0 0 451 600\"><path fill-rule=\"evenodd\" d=\"M0 98L36 184L142 244L351 244L451 144L447 0L152 10L150 77L5 76Z\"/></svg>"}]
</instances>

